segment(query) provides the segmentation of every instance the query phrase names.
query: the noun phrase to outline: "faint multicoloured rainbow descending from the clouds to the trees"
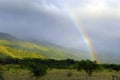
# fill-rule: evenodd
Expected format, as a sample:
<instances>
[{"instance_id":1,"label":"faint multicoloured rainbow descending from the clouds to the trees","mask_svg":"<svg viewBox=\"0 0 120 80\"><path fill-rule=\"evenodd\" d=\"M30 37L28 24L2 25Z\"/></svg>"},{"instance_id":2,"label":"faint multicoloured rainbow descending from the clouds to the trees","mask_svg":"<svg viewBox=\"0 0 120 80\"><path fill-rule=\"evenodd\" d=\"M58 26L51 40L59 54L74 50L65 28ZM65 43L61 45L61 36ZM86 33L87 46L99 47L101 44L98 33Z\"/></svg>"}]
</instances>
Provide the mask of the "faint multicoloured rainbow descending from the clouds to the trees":
<instances>
[{"instance_id":1,"label":"faint multicoloured rainbow descending from the clouds to the trees","mask_svg":"<svg viewBox=\"0 0 120 80\"><path fill-rule=\"evenodd\" d=\"M66 8L66 6L64 7ZM92 41L90 40L89 36L84 32L83 25L80 23L80 20L77 18L75 12L71 11L69 7L64 10L68 15L68 17L71 19L71 21L74 23L74 26L79 30L79 33L83 39L84 44L86 45L88 49L88 54L90 55L90 59L92 61L97 61L97 63L100 63L96 54L96 51L92 45Z\"/></svg>"}]
</instances>

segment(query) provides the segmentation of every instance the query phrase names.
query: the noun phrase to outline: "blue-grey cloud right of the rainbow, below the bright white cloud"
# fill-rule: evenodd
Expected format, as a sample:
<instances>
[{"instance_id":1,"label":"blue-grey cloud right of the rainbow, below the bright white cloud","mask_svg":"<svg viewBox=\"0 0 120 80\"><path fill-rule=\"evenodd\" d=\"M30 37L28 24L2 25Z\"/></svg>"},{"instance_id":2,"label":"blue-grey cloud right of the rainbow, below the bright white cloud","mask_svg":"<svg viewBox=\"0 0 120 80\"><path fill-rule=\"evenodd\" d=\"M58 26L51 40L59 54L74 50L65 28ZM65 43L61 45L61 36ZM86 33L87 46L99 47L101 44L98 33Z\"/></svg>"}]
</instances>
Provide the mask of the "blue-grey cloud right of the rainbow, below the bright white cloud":
<instances>
[{"instance_id":1,"label":"blue-grey cloud right of the rainbow, below the bright white cloud","mask_svg":"<svg viewBox=\"0 0 120 80\"><path fill-rule=\"evenodd\" d=\"M118 52L120 47L120 19L95 19L85 21L84 28L98 50ZM111 51L112 50L112 51Z\"/></svg>"}]
</instances>

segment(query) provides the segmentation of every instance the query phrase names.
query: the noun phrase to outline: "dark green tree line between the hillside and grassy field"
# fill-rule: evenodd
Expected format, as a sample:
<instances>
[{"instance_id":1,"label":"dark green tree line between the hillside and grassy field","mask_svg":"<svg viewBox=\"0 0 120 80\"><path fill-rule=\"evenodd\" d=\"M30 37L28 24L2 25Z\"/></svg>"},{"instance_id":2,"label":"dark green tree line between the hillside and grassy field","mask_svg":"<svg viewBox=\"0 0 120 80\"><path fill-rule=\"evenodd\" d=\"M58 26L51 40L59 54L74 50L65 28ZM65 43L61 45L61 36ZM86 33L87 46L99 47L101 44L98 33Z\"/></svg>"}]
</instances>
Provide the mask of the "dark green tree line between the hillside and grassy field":
<instances>
[{"instance_id":1,"label":"dark green tree line between the hillside and grassy field","mask_svg":"<svg viewBox=\"0 0 120 80\"><path fill-rule=\"evenodd\" d=\"M55 60L55 59L0 59L0 65L17 64L22 69L30 70L35 77L44 76L48 69L76 69L78 71L84 70L88 76L91 76L93 71L107 69L120 71L119 64L98 64L96 61L81 60L75 61L73 59ZM1 74L1 72L0 72Z\"/></svg>"}]
</instances>

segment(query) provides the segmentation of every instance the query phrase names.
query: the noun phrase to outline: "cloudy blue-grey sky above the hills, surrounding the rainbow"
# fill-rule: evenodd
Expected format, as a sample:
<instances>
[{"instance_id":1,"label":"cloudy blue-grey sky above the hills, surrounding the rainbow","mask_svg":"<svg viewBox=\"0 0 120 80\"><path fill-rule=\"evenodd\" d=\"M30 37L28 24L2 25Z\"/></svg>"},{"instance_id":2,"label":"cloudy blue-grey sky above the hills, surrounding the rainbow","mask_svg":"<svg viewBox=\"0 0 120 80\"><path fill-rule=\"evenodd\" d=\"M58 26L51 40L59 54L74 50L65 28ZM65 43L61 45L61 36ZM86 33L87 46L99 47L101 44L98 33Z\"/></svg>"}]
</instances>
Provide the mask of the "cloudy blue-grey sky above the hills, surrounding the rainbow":
<instances>
[{"instance_id":1,"label":"cloudy blue-grey sky above the hills, surrounding the rainbow","mask_svg":"<svg viewBox=\"0 0 120 80\"><path fill-rule=\"evenodd\" d=\"M120 56L120 0L0 0L0 32Z\"/></svg>"}]
</instances>

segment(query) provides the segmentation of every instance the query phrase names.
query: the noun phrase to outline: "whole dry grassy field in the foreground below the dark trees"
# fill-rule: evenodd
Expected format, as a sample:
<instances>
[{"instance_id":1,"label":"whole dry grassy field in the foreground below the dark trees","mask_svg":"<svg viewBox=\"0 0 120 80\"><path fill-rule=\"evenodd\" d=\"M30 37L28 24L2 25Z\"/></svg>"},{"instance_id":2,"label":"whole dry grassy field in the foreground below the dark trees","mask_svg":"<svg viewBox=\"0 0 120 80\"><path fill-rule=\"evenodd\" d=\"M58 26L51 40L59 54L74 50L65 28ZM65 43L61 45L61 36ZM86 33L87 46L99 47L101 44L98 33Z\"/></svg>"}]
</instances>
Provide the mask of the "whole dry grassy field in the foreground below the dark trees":
<instances>
[{"instance_id":1,"label":"whole dry grassy field in the foreground below the dark trees","mask_svg":"<svg viewBox=\"0 0 120 80\"><path fill-rule=\"evenodd\" d=\"M11 65L12 67L12 65ZM48 70L47 74L42 78L35 78L30 71L20 69L19 66L4 66L3 77L5 80L120 80L120 72L101 71L94 72L91 77L87 77L84 71L68 69L53 69ZM112 79L112 76L117 76L119 79Z\"/></svg>"}]
</instances>

